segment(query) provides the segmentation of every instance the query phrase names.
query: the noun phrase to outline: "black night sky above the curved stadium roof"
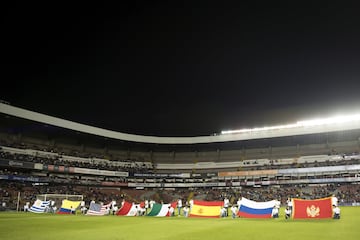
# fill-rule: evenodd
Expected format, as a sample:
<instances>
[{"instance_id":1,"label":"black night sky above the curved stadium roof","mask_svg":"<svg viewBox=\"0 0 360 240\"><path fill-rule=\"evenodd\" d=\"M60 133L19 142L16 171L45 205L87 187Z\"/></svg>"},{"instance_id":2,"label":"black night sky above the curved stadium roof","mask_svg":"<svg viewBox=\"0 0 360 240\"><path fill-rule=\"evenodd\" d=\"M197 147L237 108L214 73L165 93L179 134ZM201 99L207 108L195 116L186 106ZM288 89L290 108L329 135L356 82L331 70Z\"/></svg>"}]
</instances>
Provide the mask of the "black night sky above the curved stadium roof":
<instances>
[{"instance_id":1,"label":"black night sky above the curved stadium roof","mask_svg":"<svg viewBox=\"0 0 360 240\"><path fill-rule=\"evenodd\" d=\"M0 99L154 136L360 111L355 4L120 2L3 5Z\"/></svg>"}]
</instances>

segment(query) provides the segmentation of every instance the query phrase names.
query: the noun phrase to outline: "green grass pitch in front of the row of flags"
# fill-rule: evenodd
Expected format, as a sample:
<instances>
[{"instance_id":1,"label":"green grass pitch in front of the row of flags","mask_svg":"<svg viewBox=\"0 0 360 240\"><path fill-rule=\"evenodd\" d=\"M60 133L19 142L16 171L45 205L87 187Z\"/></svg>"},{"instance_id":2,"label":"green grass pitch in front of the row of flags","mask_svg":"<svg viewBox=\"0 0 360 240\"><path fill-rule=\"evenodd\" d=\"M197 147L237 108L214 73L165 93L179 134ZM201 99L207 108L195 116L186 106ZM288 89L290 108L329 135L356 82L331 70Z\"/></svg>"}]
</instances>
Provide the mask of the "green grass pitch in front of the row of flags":
<instances>
[{"instance_id":1,"label":"green grass pitch in front of the row of flags","mask_svg":"<svg viewBox=\"0 0 360 240\"><path fill-rule=\"evenodd\" d=\"M283 209L281 209L283 213ZM0 239L360 239L360 207L340 220L203 219L0 213Z\"/></svg>"}]
</instances>

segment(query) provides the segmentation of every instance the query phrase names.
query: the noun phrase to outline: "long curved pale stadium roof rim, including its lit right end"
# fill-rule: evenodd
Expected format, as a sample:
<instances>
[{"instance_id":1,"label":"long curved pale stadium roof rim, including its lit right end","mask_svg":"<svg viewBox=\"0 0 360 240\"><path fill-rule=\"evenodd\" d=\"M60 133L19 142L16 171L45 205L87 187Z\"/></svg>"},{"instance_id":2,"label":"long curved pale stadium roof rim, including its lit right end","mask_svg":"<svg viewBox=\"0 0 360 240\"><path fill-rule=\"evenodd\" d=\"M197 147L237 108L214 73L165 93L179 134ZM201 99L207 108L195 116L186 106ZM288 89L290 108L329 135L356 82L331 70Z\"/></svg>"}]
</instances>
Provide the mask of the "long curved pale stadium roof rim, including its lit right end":
<instances>
[{"instance_id":1,"label":"long curved pale stadium roof rim, including its lit right end","mask_svg":"<svg viewBox=\"0 0 360 240\"><path fill-rule=\"evenodd\" d=\"M338 116L326 119L299 121L295 124L225 131L222 134L213 136L155 137L126 134L107 129L101 129L98 127L88 126L85 124L76 123L65 119L60 119L49 115L14 107L4 103L0 103L0 112L10 116L15 116L18 118L27 119L64 129L69 129L76 132L83 132L86 134L97 135L122 141L152 144L202 144L216 142L233 142L241 140L268 139L360 129L360 115L351 115Z\"/></svg>"}]
</instances>

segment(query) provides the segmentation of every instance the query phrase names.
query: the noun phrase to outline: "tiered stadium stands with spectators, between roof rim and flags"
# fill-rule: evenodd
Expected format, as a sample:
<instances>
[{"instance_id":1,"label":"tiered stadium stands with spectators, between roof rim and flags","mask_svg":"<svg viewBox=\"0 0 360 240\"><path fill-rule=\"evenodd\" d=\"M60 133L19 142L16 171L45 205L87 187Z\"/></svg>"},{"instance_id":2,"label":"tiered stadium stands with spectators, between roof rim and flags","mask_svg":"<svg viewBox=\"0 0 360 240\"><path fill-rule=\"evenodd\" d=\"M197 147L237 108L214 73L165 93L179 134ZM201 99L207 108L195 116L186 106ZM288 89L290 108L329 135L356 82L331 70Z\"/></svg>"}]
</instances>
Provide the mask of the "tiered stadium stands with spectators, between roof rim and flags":
<instances>
[{"instance_id":1,"label":"tiered stadium stands with spectators, between roof rim and flags","mask_svg":"<svg viewBox=\"0 0 360 240\"><path fill-rule=\"evenodd\" d=\"M44 193L91 200L190 197L235 202L335 194L360 203L360 129L201 144L109 139L2 114L0 201L17 209ZM20 193L20 199L19 199Z\"/></svg>"}]
</instances>

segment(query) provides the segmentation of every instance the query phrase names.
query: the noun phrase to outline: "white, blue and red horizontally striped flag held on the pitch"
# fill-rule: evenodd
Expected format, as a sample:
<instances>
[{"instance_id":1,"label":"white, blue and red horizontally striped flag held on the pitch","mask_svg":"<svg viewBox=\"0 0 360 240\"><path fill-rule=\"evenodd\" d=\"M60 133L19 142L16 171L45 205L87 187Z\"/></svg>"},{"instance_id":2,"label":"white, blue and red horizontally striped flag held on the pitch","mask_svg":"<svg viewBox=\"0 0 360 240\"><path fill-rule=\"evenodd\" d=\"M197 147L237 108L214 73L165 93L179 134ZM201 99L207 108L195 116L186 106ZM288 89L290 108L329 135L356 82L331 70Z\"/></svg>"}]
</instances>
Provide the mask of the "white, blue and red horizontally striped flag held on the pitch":
<instances>
[{"instance_id":1,"label":"white, blue and red horizontally striped flag held on the pitch","mask_svg":"<svg viewBox=\"0 0 360 240\"><path fill-rule=\"evenodd\" d=\"M238 215L246 218L271 218L271 212L276 204L276 200L267 202L255 202L242 197Z\"/></svg>"}]
</instances>

